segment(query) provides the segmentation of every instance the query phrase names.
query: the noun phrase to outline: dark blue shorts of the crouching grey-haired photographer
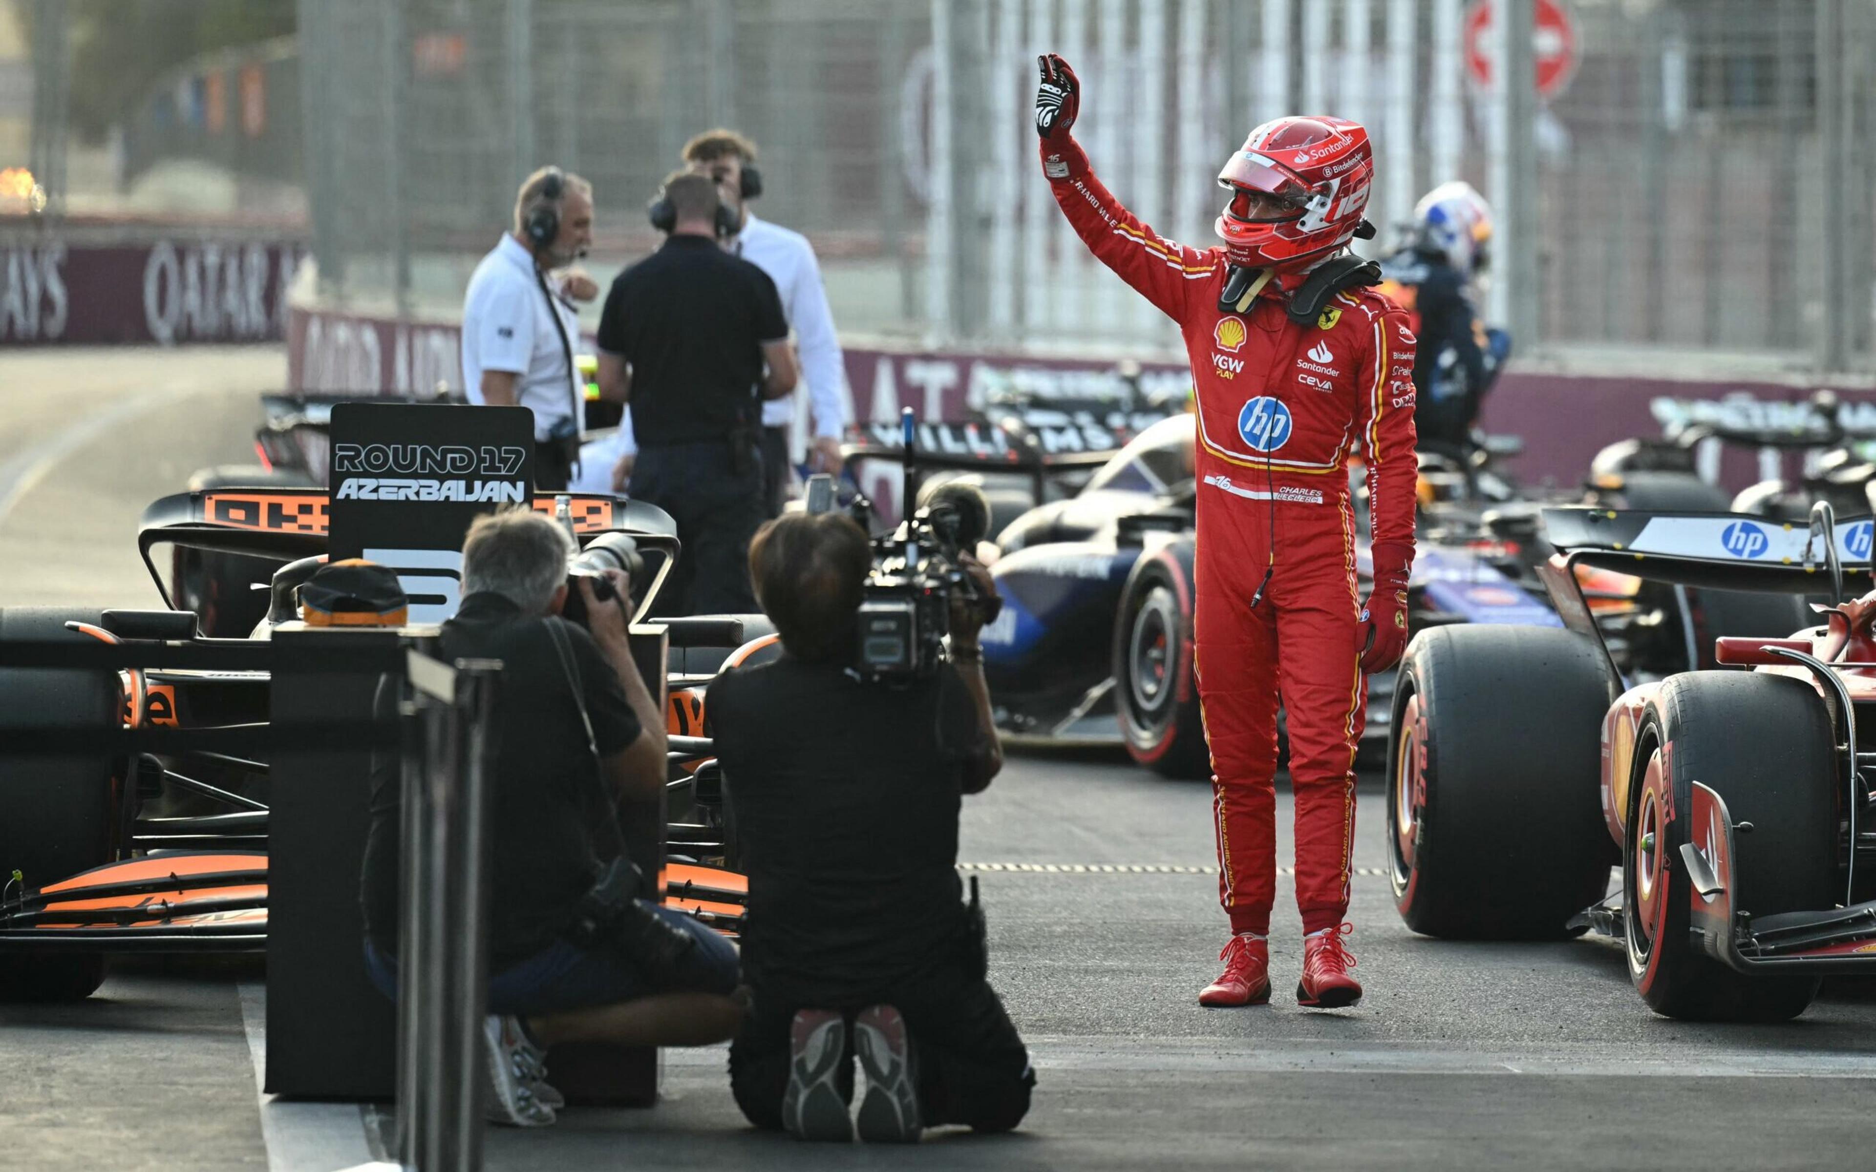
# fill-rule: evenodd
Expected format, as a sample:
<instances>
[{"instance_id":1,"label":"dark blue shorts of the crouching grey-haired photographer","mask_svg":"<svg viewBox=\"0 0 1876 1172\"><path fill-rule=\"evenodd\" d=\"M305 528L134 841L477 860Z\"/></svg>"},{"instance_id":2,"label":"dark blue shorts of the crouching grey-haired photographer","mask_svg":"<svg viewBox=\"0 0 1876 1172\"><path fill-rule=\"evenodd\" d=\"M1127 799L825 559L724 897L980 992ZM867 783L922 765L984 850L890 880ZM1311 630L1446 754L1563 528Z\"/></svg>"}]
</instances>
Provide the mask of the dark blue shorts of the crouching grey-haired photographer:
<instances>
[{"instance_id":1,"label":"dark blue shorts of the crouching grey-haired photographer","mask_svg":"<svg viewBox=\"0 0 1876 1172\"><path fill-rule=\"evenodd\" d=\"M735 945L673 908L653 908L666 921L696 939L670 981L653 984L645 971L615 949L582 949L555 939L525 960L518 960L488 979L488 1011L535 1016L567 1013L593 1005L615 1005L655 992L728 994L735 988ZM364 941L366 973L386 998L398 998L398 958Z\"/></svg>"}]
</instances>

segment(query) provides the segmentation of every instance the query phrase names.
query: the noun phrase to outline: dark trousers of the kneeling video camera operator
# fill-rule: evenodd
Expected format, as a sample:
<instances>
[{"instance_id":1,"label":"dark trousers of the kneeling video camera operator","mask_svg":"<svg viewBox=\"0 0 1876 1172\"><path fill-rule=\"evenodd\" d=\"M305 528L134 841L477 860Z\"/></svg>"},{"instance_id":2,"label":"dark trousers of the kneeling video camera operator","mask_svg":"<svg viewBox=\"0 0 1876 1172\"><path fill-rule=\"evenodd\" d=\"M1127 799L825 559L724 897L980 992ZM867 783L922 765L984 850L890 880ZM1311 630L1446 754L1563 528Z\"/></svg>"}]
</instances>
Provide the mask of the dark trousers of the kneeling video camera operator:
<instances>
[{"instance_id":1,"label":"dark trousers of the kneeling video camera operator","mask_svg":"<svg viewBox=\"0 0 1876 1172\"><path fill-rule=\"evenodd\" d=\"M946 969L900 981L857 1005L816 1005L799 994L754 990L754 1009L730 1043L730 1093L756 1127L780 1131L788 1089L788 1026L797 1009L848 1011L848 1067L852 1073L852 1014L867 1005L893 1005L912 1033L919 1116L927 1127L962 1123L976 1131L1009 1131L1030 1110L1036 1073L1017 1028L989 981ZM852 1078L842 1078L844 1089Z\"/></svg>"}]
</instances>

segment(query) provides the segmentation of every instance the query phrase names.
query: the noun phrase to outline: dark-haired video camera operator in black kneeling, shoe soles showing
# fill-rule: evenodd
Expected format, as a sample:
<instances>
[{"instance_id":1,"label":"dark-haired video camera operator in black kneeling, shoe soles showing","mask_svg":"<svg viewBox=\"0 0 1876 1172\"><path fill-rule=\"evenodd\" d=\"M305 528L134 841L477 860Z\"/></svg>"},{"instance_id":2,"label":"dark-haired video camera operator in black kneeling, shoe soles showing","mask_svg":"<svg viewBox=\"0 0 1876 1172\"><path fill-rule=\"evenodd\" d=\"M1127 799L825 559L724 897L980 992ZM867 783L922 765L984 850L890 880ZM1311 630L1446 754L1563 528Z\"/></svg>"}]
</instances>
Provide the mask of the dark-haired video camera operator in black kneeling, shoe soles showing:
<instances>
[{"instance_id":1,"label":"dark-haired video camera operator in black kneeling, shoe soles showing","mask_svg":"<svg viewBox=\"0 0 1876 1172\"><path fill-rule=\"evenodd\" d=\"M904 686L855 669L867 534L839 514L769 521L749 551L782 656L724 673L705 713L749 872L743 977L754 1005L730 1046L758 1127L852 1140L923 1127L1009 1131L1036 1076L985 979L962 902L962 793L1002 767L983 686L981 613L951 608L951 664ZM977 591L994 594L972 559Z\"/></svg>"}]
</instances>

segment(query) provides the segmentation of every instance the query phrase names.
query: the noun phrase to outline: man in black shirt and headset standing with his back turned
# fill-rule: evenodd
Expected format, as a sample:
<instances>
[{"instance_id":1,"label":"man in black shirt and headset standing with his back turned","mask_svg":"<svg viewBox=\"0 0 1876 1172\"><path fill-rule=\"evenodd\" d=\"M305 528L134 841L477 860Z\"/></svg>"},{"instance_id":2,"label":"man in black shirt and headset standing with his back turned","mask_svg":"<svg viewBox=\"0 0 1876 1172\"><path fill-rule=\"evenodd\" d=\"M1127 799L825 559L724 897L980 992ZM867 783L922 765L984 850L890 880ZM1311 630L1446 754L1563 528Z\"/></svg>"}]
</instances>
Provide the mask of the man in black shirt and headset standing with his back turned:
<instances>
[{"instance_id":1,"label":"man in black shirt and headset standing with his back turned","mask_svg":"<svg viewBox=\"0 0 1876 1172\"><path fill-rule=\"evenodd\" d=\"M630 495L672 514L685 546L660 613L749 613L762 403L795 388L788 323L775 281L720 248L734 221L707 176L666 178L651 221L664 246L606 294L600 396L630 405L640 446Z\"/></svg>"}]
</instances>

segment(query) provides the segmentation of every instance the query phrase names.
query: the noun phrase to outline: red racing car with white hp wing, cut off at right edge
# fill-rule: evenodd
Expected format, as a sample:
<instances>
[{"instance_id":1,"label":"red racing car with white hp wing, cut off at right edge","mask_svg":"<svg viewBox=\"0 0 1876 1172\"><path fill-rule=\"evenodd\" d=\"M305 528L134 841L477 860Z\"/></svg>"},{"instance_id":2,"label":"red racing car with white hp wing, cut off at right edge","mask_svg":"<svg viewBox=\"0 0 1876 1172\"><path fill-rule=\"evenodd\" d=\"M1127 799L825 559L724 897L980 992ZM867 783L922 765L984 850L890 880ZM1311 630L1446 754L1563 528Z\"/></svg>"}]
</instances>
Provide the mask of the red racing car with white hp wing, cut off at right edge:
<instances>
[{"instance_id":1,"label":"red racing car with white hp wing, cut off at right edge","mask_svg":"<svg viewBox=\"0 0 1876 1172\"><path fill-rule=\"evenodd\" d=\"M1394 688L1388 857L1409 928L1623 941L1651 1009L1784 1020L1823 973L1876 971L1872 521L1553 508L1565 630L1445 626ZM1630 684L1581 566L1833 598L1790 638L1718 638L1717 669ZM1867 579L1865 579L1867 581ZM1867 733L1865 733L1867 737ZM1610 868L1621 891L1608 894Z\"/></svg>"}]
</instances>

